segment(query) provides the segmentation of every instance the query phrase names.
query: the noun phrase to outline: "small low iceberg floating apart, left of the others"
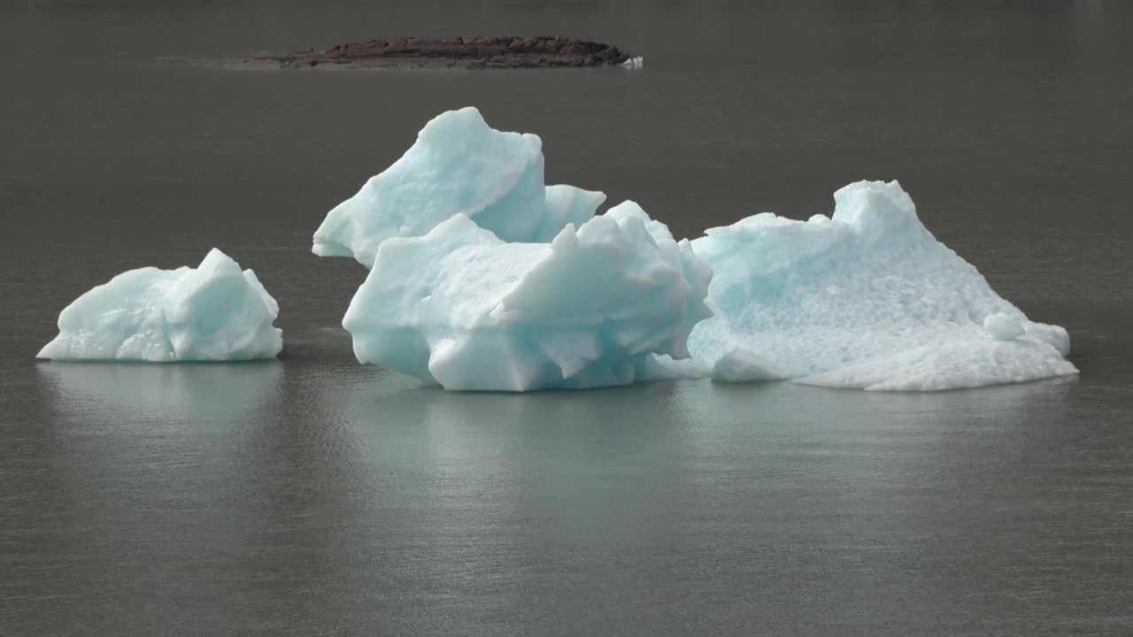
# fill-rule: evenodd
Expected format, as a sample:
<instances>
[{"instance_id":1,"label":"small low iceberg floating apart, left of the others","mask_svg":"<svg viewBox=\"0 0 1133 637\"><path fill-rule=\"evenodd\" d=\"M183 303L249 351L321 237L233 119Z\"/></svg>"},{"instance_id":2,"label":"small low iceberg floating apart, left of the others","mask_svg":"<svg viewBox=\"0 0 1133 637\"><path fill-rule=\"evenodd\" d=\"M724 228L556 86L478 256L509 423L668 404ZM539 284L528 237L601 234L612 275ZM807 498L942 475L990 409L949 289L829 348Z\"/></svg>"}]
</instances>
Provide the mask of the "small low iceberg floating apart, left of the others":
<instances>
[{"instance_id":1,"label":"small low iceberg floating apart, left of the others","mask_svg":"<svg viewBox=\"0 0 1133 637\"><path fill-rule=\"evenodd\" d=\"M283 348L279 305L252 270L213 248L194 267L140 267L78 297L39 358L249 360Z\"/></svg>"}]
</instances>

